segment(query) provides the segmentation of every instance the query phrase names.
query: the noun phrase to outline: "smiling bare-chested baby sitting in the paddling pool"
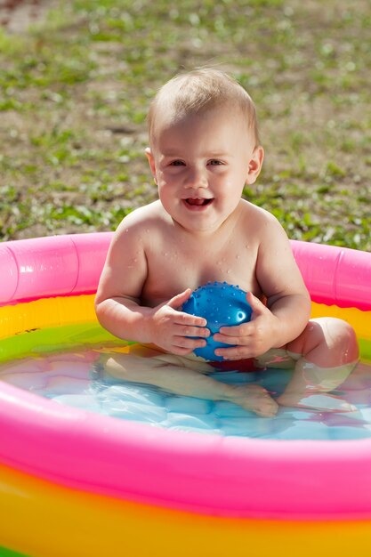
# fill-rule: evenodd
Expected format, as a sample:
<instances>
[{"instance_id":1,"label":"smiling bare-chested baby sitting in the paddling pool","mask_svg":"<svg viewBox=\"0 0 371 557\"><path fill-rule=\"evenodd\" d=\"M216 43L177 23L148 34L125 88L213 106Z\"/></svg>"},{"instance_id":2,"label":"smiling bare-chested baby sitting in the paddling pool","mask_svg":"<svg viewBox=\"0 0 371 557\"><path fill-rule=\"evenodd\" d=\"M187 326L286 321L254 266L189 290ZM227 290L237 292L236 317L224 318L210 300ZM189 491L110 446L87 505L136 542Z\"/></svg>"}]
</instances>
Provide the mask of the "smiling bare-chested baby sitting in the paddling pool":
<instances>
[{"instance_id":1,"label":"smiling bare-chested baby sitting in the paddling pool","mask_svg":"<svg viewBox=\"0 0 371 557\"><path fill-rule=\"evenodd\" d=\"M219 70L174 77L150 106L146 155L159 200L117 228L96 295L101 325L138 344L106 357L105 367L177 394L230 400L259 416L275 415L278 404L318 407L315 393L343 383L358 344L340 319L309 320L310 296L285 231L241 198L264 155L250 96ZM216 381L208 374L217 364L193 354L210 331L206 319L181 306L215 280L246 290L253 309L250 322L214 335L230 344L215 355L234 369L251 359L255 367L294 367L277 400L258 385Z\"/></svg>"}]
</instances>

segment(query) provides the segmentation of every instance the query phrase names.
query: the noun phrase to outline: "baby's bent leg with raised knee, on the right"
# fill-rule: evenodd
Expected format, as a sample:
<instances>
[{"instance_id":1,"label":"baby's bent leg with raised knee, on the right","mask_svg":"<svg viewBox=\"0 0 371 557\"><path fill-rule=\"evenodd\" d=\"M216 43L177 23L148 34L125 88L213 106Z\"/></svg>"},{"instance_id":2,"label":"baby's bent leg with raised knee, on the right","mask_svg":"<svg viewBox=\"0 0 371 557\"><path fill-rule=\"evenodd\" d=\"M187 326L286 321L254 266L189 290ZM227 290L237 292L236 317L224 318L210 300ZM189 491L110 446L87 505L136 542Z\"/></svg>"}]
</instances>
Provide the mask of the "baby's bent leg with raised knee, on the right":
<instances>
[{"instance_id":1,"label":"baby's bent leg with raised knee, on the right","mask_svg":"<svg viewBox=\"0 0 371 557\"><path fill-rule=\"evenodd\" d=\"M302 335L286 348L297 361L278 404L327 411L354 410L335 395L319 396L342 384L358 362L357 338L348 323L335 318L312 319Z\"/></svg>"}]
</instances>

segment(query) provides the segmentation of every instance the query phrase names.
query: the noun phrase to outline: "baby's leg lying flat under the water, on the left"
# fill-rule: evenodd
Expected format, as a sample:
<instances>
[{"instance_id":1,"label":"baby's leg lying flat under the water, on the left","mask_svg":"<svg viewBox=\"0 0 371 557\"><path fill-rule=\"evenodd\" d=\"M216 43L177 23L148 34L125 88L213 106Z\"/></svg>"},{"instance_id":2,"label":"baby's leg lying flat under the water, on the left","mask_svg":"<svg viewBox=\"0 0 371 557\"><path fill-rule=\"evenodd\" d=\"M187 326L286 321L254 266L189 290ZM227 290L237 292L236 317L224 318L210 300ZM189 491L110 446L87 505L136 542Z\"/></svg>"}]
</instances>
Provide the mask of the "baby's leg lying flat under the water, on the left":
<instances>
[{"instance_id":1,"label":"baby's leg lying flat under the water, on the left","mask_svg":"<svg viewBox=\"0 0 371 557\"><path fill-rule=\"evenodd\" d=\"M119 379L134 383L156 385L166 392L207 400L229 400L258 416L274 416L278 405L269 393L258 385L233 386L206 375L214 368L172 354L145 358L135 351L101 356L101 364Z\"/></svg>"}]
</instances>

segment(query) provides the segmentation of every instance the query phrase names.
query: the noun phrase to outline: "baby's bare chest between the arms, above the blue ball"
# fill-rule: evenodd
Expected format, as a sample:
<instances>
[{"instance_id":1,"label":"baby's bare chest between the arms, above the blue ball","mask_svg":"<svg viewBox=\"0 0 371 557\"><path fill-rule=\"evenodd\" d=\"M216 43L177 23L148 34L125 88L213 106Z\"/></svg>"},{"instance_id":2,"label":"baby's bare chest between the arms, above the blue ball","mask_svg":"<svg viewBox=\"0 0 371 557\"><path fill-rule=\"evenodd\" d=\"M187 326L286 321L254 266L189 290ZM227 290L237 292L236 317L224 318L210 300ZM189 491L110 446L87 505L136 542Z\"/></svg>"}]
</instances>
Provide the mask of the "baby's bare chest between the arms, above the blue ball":
<instances>
[{"instance_id":1,"label":"baby's bare chest between the arms, above the blue ball","mask_svg":"<svg viewBox=\"0 0 371 557\"><path fill-rule=\"evenodd\" d=\"M142 236L147 276L141 304L154 307L209 280L226 281L262 295L255 277L259 249L256 220L257 216L263 219L264 214L260 209L242 201L214 234L195 237L174 223L159 204L153 208L157 219L149 220Z\"/></svg>"}]
</instances>

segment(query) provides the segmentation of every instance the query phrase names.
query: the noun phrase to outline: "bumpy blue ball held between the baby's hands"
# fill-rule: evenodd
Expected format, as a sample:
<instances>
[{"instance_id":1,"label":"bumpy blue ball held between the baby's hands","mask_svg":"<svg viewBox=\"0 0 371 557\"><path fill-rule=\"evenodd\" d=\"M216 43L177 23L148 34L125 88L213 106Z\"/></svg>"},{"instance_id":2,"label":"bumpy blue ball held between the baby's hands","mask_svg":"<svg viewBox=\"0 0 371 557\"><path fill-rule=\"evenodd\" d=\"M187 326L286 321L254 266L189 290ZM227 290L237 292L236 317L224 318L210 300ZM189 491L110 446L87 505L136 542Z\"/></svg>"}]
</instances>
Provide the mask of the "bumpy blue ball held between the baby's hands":
<instances>
[{"instance_id":1,"label":"bumpy blue ball held between the baby's hands","mask_svg":"<svg viewBox=\"0 0 371 557\"><path fill-rule=\"evenodd\" d=\"M246 292L226 282L208 282L199 287L187 302L183 303L182 311L203 317L207 321L206 327L211 335L206 338L206 346L196 348L194 353L210 361L222 361L222 356L216 356L216 348L231 347L231 344L217 343L213 335L221 327L231 327L250 321L253 310L246 301Z\"/></svg>"}]
</instances>

